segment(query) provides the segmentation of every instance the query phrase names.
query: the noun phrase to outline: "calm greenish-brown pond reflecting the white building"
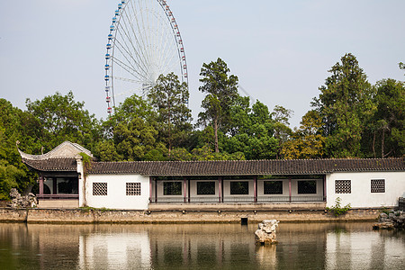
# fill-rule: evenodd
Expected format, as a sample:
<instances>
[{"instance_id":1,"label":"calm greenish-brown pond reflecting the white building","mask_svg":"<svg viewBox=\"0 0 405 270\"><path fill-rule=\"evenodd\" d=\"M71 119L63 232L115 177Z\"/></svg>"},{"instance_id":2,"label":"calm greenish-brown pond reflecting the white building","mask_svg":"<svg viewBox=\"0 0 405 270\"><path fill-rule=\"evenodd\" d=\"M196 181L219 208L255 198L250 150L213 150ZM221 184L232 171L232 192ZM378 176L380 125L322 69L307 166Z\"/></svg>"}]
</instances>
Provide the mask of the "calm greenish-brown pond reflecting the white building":
<instances>
[{"instance_id":1,"label":"calm greenish-brown pond reflecting the white building","mask_svg":"<svg viewBox=\"0 0 405 270\"><path fill-rule=\"evenodd\" d=\"M372 223L0 224L1 269L404 269L405 232Z\"/></svg>"}]
</instances>

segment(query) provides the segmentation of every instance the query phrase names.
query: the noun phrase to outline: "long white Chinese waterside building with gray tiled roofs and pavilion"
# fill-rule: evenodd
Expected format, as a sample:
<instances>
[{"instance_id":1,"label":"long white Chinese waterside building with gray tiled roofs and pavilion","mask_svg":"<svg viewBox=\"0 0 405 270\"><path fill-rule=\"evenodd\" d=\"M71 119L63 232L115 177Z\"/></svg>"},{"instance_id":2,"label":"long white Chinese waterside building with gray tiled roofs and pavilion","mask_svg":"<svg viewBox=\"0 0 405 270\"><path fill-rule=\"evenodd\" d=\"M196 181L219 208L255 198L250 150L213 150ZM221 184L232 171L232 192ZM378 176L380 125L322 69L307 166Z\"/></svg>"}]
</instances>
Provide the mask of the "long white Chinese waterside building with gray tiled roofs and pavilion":
<instances>
[{"instance_id":1,"label":"long white Chinese waterside building with gray tiled roofs and pavilion","mask_svg":"<svg viewBox=\"0 0 405 270\"><path fill-rule=\"evenodd\" d=\"M40 207L148 210L241 204L325 208L342 199L352 208L393 207L405 193L403 158L243 161L97 162L64 142L23 162L38 172ZM63 203L61 203L63 202ZM71 202L71 203L70 203ZM315 203L315 204L314 204ZM313 206L312 206L313 207Z\"/></svg>"}]
</instances>

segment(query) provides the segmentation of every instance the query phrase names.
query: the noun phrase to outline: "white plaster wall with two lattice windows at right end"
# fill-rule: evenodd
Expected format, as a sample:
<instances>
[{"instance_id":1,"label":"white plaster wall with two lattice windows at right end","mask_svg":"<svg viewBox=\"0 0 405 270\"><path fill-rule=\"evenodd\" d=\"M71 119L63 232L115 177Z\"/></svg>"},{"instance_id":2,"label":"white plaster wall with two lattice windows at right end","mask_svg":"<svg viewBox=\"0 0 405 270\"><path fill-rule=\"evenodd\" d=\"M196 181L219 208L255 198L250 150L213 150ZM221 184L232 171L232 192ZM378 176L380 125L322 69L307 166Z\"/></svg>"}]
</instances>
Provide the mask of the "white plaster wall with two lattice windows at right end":
<instances>
[{"instance_id":1,"label":"white plaster wall with two lattice windows at right end","mask_svg":"<svg viewBox=\"0 0 405 270\"><path fill-rule=\"evenodd\" d=\"M385 193L371 193L371 180L385 179ZM351 180L351 193L335 193L335 180ZM352 208L379 208L398 205L405 192L405 172L359 172L327 175L327 206L335 205L336 198Z\"/></svg>"}]
</instances>

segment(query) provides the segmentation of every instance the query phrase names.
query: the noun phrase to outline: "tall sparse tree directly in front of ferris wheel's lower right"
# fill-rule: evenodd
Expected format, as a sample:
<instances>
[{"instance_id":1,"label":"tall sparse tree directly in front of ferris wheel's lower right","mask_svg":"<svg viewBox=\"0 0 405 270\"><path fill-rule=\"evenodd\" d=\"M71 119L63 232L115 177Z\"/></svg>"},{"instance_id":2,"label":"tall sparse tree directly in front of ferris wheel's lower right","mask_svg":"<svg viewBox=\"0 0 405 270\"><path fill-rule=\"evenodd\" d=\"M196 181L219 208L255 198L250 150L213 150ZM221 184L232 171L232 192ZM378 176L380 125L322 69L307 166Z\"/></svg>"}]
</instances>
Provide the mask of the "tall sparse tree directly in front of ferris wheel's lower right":
<instances>
[{"instance_id":1,"label":"tall sparse tree directly in front of ferris wheel's lower right","mask_svg":"<svg viewBox=\"0 0 405 270\"><path fill-rule=\"evenodd\" d=\"M193 129L191 110L186 104L189 99L187 85L180 84L174 73L161 75L148 98L157 112L159 137L166 142L170 157L172 148L182 146Z\"/></svg>"}]
</instances>

